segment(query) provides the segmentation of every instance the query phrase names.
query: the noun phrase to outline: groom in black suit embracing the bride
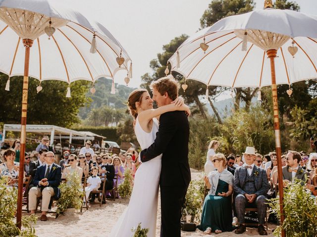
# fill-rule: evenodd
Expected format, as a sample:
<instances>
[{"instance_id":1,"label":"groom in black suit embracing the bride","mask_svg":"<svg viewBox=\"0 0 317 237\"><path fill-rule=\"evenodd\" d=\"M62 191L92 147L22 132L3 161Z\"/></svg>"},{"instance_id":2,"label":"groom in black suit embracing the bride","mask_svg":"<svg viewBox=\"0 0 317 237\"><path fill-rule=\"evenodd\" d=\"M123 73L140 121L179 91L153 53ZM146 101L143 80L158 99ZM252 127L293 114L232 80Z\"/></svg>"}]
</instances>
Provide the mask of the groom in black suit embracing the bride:
<instances>
[{"instance_id":1,"label":"groom in black suit embracing the bride","mask_svg":"<svg viewBox=\"0 0 317 237\"><path fill-rule=\"evenodd\" d=\"M178 96L179 83L169 77L150 85L158 107ZM189 123L184 111L162 114L154 143L140 154L142 162L162 155L159 186L161 199L161 237L180 237L181 208L191 180L188 164Z\"/></svg>"}]
</instances>

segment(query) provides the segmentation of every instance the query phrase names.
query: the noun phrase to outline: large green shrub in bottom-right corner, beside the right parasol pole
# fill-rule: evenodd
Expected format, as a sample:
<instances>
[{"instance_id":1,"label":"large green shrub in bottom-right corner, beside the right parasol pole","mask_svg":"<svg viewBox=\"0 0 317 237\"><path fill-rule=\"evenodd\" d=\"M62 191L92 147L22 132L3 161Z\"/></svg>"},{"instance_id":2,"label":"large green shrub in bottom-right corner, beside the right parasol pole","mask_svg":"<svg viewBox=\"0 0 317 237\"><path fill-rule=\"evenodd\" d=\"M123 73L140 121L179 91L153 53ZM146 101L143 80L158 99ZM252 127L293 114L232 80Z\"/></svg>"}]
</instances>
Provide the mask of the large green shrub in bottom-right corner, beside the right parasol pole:
<instances>
[{"instance_id":1,"label":"large green shrub in bottom-right corner, beside the right parasol pole","mask_svg":"<svg viewBox=\"0 0 317 237\"><path fill-rule=\"evenodd\" d=\"M287 237L314 237L317 236L317 205L316 198L296 179L287 188L284 188L283 209L285 220L282 226L274 231L274 236L280 236L282 229ZM276 213L280 219L280 206L278 197L270 199L271 212Z\"/></svg>"}]
</instances>

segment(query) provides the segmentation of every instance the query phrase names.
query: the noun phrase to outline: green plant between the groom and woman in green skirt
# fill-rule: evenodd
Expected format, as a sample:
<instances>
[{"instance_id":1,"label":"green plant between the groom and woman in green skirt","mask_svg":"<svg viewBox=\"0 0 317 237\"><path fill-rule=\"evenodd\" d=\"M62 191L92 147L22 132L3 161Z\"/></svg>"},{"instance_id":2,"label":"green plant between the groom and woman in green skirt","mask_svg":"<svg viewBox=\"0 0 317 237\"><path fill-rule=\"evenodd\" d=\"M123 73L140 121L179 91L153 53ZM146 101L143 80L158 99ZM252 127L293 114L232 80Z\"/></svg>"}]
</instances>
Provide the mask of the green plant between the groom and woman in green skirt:
<instances>
[{"instance_id":1,"label":"green plant between the groom and woman in green skirt","mask_svg":"<svg viewBox=\"0 0 317 237\"><path fill-rule=\"evenodd\" d=\"M205 183L202 179L190 181L185 197L183 216L191 215L192 222L195 220L195 217L197 220L200 220L204 190Z\"/></svg>"}]
</instances>

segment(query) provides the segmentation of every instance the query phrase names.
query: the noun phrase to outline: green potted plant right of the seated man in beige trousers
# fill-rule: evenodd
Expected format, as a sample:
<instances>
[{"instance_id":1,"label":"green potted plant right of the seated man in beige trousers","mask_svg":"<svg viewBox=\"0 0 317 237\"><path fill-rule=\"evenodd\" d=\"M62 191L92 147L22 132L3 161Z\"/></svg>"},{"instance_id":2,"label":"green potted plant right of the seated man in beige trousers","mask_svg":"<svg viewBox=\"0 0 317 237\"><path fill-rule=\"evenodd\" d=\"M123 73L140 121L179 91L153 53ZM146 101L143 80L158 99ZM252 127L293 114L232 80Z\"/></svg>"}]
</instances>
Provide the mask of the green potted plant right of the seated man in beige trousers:
<instances>
[{"instance_id":1,"label":"green potted plant right of the seated man in beige trousers","mask_svg":"<svg viewBox=\"0 0 317 237\"><path fill-rule=\"evenodd\" d=\"M85 195L81 180L76 172L72 172L66 176L67 182L58 186L60 197L57 200L57 214L69 214L79 210L83 205L83 197ZM73 208L73 209L71 209Z\"/></svg>"}]
</instances>

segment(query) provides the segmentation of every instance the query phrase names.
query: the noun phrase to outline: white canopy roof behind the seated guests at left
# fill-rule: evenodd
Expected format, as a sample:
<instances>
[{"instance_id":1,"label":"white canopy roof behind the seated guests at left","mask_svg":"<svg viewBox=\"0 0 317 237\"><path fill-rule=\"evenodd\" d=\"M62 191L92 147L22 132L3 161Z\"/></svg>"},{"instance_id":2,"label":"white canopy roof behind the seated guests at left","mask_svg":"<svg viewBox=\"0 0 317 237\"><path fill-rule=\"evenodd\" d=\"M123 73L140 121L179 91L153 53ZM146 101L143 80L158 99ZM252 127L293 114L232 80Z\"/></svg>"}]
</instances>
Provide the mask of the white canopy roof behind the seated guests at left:
<instances>
[{"instance_id":1,"label":"white canopy roof behind the seated guests at left","mask_svg":"<svg viewBox=\"0 0 317 237\"><path fill-rule=\"evenodd\" d=\"M21 124L4 124L3 125L3 136L2 142L5 139L6 131L12 132L20 132ZM84 144L86 140L94 140L96 136L106 138L104 136L95 134L89 131L76 131L64 127L59 127L55 125L26 125L26 132L42 134L42 135L50 135L50 145L53 145L54 139L69 139L69 143L71 143L72 139L74 140L84 140Z\"/></svg>"}]
</instances>

